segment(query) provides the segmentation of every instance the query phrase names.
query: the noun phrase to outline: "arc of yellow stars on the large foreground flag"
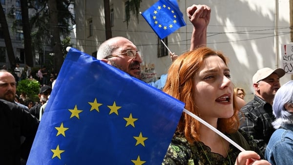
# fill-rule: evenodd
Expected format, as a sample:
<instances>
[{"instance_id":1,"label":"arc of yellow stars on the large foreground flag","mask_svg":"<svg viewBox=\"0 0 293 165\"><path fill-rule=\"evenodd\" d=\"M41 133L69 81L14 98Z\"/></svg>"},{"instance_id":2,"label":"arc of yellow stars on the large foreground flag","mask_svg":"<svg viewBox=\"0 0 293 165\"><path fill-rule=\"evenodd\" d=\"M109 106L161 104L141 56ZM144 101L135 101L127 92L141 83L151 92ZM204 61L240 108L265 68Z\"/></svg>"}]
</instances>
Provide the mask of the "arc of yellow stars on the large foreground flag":
<instances>
[{"instance_id":1,"label":"arc of yellow stars on the large foreground flag","mask_svg":"<svg viewBox=\"0 0 293 165\"><path fill-rule=\"evenodd\" d=\"M102 103L97 102L97 98L95 98L93 102L88 102L88 104L91 106L91 109L89 110L90 112L96 110L98 113L100 112L99 107L101 105L103 105ZM119 116L118 110L120 108L122 108L121 106L116 105L116 101L114 101L112 105L108 105L107 107L110 109L109 115L116 114L117 116ZM70 111L70 113L71 113L70 118L78 118L78 119L80 119L80 113L83 112L83 110L78 109L77 105L75 105L73 109L68 109L68 111ZM132 126L133 128L135 128L134 122L137 121L138 118L133 118L132 113L130 113L128 118L124 118L124 119L126 120L125 127ZM69 128L64 127L63 122L60 124L59 127L55 127L55 129L57 130L56 137L60 136L60 135L65 137L65 131L69 130ZM135 146L141 144L144 147L145 147L145 141L148 139L148 138L143 136L142 132L140 132L140 134L138 136L133 136L133 138L136 140ZM61 160L61 154L63 152L65 152L65 150L60 149L59 144L57 145L56 149L51 149L51 151L53 152L52 159L57 157L60 160ZM143 165L144 163L146 163L146 161L141 160L139 155L136 158L136 160L130 160L130 161L134 165Z\"/></svg>"}]
</instances>

